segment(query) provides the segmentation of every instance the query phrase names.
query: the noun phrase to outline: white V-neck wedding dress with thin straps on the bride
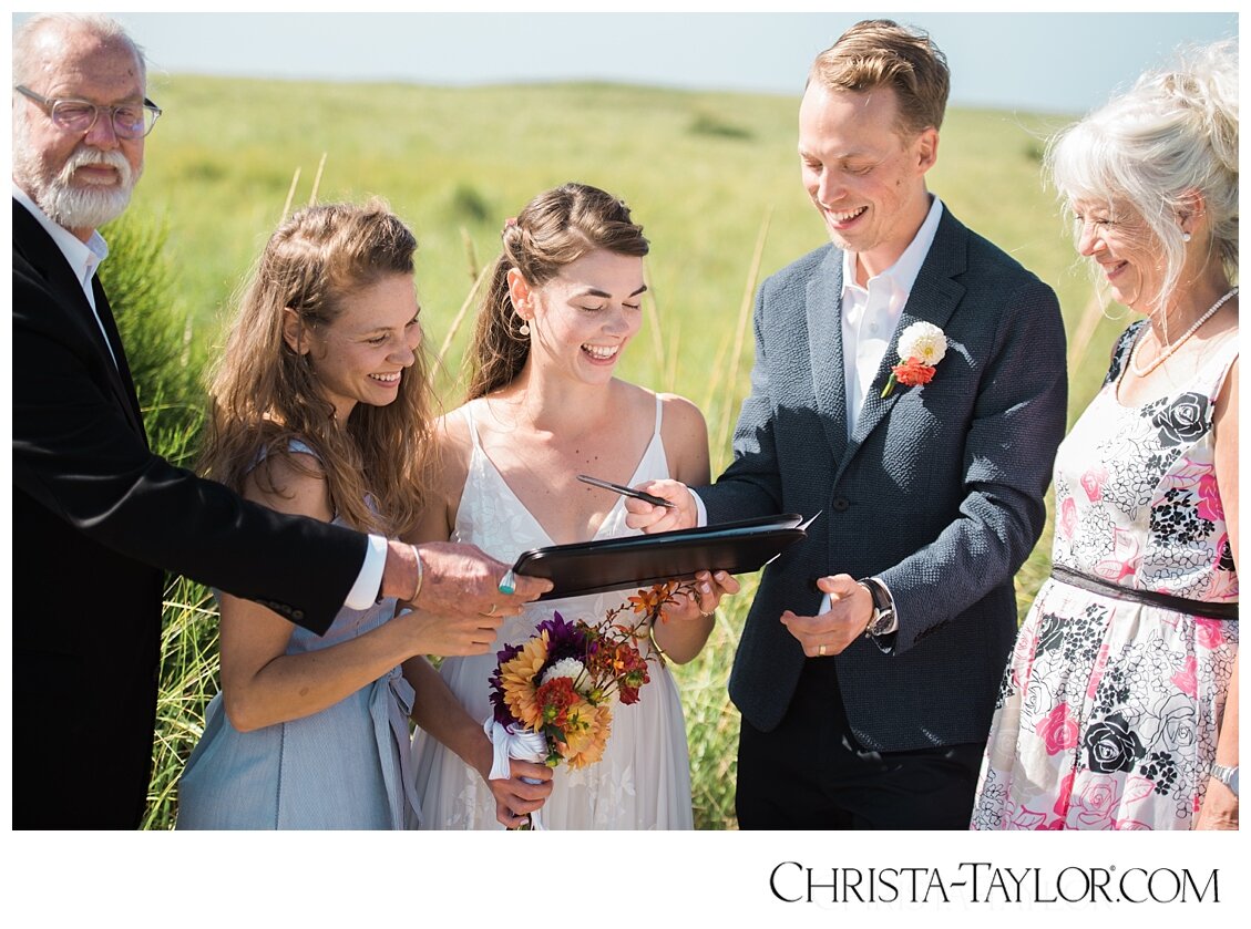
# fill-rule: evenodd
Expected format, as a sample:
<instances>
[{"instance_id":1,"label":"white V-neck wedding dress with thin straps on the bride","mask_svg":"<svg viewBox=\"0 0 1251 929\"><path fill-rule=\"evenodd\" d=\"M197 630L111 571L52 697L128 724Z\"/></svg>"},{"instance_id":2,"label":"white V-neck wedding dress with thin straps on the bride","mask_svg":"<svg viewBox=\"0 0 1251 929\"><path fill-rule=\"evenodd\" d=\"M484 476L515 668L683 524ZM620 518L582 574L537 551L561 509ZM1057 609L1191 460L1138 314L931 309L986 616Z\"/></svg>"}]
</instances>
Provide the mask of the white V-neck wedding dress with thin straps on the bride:
<instances>
[{"instance_id":1,"label":"white V-neck wedding dress with thin straps on the bride","mask_svg":"<svg viewBox=\"0 0 1251 929\"><path fill-rule=\"evenodd\" d=\"M469 476L460 496L452 541L473 543L512 564L528 549L554 544L539 521L517 499L487 458L478 440L474 408L464 409L473 436ZM668 478L661 443L661 401L656 404L656 430L629 484ZM626 508L618 500L595 539L633 535L626 525ZM519 616L504 621L495 645L484 655L448 658L440 673L475 719L490 713L488 678L495 669L495 651L505 644L524 643L553 611L564 619L594 621L619 605L634 590L593 594L534 603ZM644 648L649 644L644 640ZM637 704L613 705L612 736L603 758L580 770L560 765L554 773L552 796L543 806L548 829L691 829L691 771L686 726L678 690L668 668L648 656L651 683ZM418 730L413 744L417 794L422 798L422 829L502 829L495 800L475 770L455 754Z\"/></svg>"}]
</instances>

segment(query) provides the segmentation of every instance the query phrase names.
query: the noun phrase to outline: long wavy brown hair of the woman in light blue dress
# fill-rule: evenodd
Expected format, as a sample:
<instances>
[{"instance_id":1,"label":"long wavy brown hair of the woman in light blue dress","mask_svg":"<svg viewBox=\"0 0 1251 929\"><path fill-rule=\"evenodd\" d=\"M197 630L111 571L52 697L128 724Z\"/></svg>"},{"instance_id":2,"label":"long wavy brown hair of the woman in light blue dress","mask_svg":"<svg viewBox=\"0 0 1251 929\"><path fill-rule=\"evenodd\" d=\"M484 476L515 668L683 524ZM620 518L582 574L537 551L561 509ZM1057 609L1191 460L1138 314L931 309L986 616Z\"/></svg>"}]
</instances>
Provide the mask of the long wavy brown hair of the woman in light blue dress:
<instances>
[{"instance_id":1,"label":"long wavy brown hair of the woman in light blue dress","mask_svg":"<svg viewBox=\"0 0 1251 929\"><path fill-rule=\"evenodd\" d=\"M358 403L335 420L309 356L283 338L294 310L318 330L344 299L390 275L413 275L417 239L387 205L327 204L293 214L260 255L209 389L211 415L201 471L235 490L265 456L291 456L298 439L320 459L330 506L348 525L385 534L410 528L420 510L430 439L430 396L422 346L387 406ZM280 488L264 488L280 493Z\"/></svg>"}]
</instances>

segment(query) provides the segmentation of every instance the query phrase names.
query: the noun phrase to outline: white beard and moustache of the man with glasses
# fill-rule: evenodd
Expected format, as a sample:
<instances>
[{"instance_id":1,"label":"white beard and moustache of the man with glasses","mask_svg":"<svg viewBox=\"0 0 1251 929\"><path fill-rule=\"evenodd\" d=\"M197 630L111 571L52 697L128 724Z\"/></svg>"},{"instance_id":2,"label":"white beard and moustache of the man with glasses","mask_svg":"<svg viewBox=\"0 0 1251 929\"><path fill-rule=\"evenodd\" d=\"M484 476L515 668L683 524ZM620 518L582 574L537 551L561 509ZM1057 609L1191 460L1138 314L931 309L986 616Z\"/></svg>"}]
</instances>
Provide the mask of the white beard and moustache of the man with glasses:
<instances>
[{"instance_id":1,"label":"white beard and moustache of the man with glasses","mask_svg":"<svg viewBox=\"0 0 1251 929\"><path fill-rule=\"evenodd\" d=\"M30 150L25 133L14 139L14 176L30 199L56 225L65 229L99 229L120 216L130 204L130 194L143 171L130 170L120 151L101 151L79 145L60 174L43 176L39 154ZM70 179L84 165L109 165L118 171L118 184L111 186L74 186Z\"/></svg>"}]
</instances>

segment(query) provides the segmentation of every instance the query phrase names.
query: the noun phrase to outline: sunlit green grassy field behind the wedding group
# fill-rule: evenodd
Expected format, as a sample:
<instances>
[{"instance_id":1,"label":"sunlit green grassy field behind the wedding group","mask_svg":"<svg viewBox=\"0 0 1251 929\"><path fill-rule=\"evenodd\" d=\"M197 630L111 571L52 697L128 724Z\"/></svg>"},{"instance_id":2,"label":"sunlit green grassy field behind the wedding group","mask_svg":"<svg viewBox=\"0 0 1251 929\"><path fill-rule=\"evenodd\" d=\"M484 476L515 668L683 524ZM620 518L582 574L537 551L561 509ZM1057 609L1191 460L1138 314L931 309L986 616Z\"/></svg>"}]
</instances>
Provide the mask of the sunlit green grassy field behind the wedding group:
<instances>
[{"instance_id":1,"label":"sunlit green grassy field behind the wedding group","mask_svg":"<svg viewBox=\"0 0 1251 929\"><path fill-rule=\"evenodd\" d=\"M504 219L539 190L580 180L626 199L652 240L648 316L620 373L704 409L716 469L728 460L747 388L746 301L759 279L824 241L798 178L797 96L191 76L154 76L150 95L165 116L149 138L133 213L168 230L170 293L193 365L220 346L231 295L293 189L296 205L314 185L322 201L383 196L413 226L423 323L438 349L477 271L494 259ZM1083 334L1071 346L1072 419L1102 379L1122 324L1090 311L1091 283L1042 188L1045 138L1062 123L955 110L929 178L956 216L1057 290L1071 338ZM468 329L457 329L445 359L448 406L459 400ZM1048 548L1050 533L1018 578L1022 603L1046 574ZM738 719L724 684L753 586L727 603L704 654L678 669L701 828L733 825ZM171 589L166 621L153 826L170 823L171 786L198 736L203 694L214 690L214 619L203 593Z\"/></svg>"}]
</instances>

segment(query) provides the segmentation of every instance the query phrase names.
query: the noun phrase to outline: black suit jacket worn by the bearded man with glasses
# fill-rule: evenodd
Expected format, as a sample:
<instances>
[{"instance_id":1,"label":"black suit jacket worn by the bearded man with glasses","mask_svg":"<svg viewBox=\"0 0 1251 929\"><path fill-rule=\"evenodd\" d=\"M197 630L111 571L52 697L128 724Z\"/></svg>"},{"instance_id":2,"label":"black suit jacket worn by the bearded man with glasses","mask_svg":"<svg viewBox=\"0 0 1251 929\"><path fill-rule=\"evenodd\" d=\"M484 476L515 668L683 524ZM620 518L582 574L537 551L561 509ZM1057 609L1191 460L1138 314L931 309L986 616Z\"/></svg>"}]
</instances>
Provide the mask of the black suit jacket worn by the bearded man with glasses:
<instances>
[{"instance_id":1,"label":"black suit jacket worn by the bearded man with glasses","mask_svg":"<svg viewBox=\"0 0 1251 929\"><path fill-rule=\"evenodd\" d=\"M253 505L154 455L99 281L13 204L14 825L139 824L164 570L324 631L365 536ZM120 370L119 370L120 368Z\"/></svg>"}]
</instances>

